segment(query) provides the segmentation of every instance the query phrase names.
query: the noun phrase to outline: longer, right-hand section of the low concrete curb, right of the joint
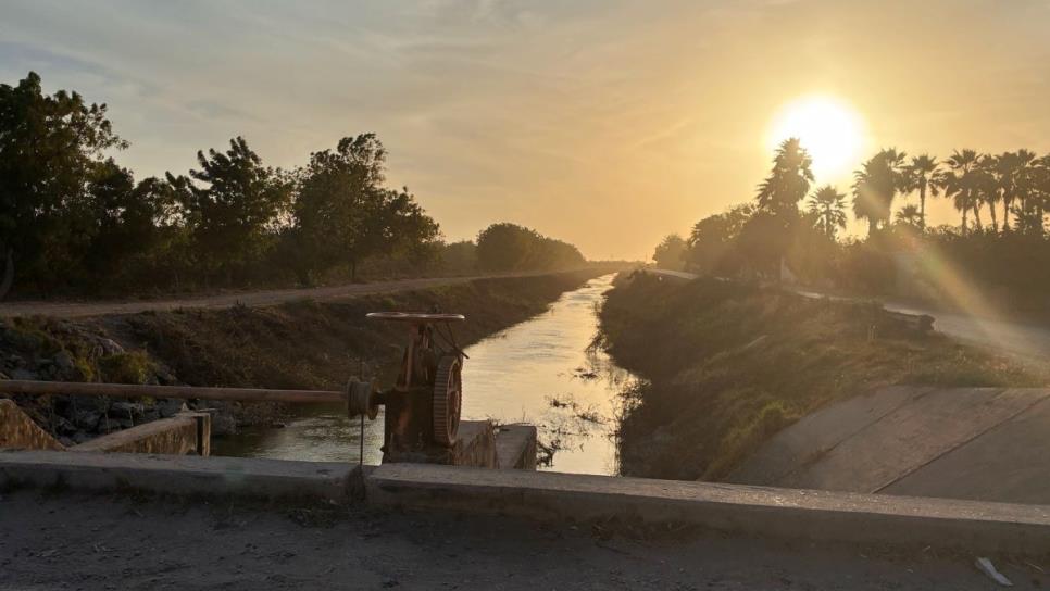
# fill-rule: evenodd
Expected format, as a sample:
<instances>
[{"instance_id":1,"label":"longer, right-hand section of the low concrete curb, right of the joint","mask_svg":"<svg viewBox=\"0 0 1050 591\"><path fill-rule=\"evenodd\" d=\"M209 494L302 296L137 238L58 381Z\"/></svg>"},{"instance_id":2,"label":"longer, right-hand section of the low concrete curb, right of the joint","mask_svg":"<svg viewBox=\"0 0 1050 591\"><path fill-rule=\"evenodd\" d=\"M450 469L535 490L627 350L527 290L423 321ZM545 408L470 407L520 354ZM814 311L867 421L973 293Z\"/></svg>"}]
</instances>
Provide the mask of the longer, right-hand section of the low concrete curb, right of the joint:
<instances>
[{"instance_id":1,"label":"longer, right-hand section of the low concrete curb, right of the joint","mask_svg":"<svg viewBox=\"0 0 1050 591\"><path fill-rule=\"evenodd\" d=\"M389 464L368 503L547 520L699 526L735 535L1050 551L1050 507L530 470Z\"/></svg>"}]
</instances>

